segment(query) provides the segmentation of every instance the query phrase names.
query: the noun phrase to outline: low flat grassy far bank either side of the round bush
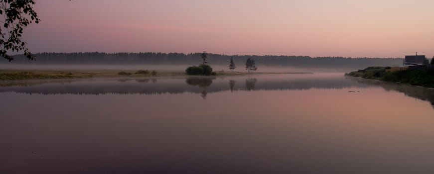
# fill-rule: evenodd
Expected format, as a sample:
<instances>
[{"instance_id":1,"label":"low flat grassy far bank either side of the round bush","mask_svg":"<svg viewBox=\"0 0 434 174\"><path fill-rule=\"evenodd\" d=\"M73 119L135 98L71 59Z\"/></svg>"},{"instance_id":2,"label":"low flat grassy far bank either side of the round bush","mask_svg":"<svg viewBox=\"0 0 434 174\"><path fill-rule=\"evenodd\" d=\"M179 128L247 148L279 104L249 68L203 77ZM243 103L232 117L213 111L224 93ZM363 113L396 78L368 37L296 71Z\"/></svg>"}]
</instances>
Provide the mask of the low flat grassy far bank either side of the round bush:
<instances>
[{"instance_id":1,"label":"low flat grassy far bank either side of the round bush","mask_svg":"<svg viewBox=\"0 0 434 174\"><path fill-rule=\"evenodd\" d=\"M217 76L240 76L259 74L311 74L305 72L286 73L247 73L247 72L216 72ZM122 77L179 77L189 76L185 72L170 71L117 71L117 70L0 70L0 80L31 80L31 79L79 79L79 78L122 78Z\"/></svg>"}]
</instances>

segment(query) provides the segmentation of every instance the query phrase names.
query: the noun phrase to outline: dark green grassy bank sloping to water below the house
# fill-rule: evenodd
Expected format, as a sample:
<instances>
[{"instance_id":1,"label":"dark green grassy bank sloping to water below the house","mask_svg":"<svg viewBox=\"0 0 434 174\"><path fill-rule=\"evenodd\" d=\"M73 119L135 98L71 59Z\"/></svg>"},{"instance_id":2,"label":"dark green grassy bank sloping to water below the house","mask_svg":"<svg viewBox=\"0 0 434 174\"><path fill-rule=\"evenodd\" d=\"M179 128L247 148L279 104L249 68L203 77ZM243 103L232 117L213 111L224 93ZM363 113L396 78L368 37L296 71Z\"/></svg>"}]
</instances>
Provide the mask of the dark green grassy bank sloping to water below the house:
<instances>
[{"instance_id":1,"label":"dark green grassy bank sloping to water below the house","mask_svg":"<svg viewBox=\"0 0 434 174\"><path fill-rule=\"evenodd\" d=\"M350 72L345 75L422 87L434 87L433 69L421 68L386 72L386 67L368 67L364 70Z\"/></svg>"}]
</instances>

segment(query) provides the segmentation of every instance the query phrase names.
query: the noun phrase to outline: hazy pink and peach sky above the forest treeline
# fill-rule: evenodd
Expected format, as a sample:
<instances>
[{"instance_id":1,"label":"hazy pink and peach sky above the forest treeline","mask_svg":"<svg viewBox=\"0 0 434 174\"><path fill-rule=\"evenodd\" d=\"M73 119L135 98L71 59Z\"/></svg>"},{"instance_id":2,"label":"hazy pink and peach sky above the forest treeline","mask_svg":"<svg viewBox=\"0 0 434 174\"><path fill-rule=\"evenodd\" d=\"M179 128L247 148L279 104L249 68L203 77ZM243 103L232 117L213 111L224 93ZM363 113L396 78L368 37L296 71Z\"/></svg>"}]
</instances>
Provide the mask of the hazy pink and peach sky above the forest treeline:
<instances>
[{"instance_id":1,"label":"hazy pink and peach sky above the forest treeline","mask_svg":"<svg viewBox=\"0 0 434 174\"><path fill-rule=\"evenodd\" d=\"M434 55L434 0L36 0L37 52Z\"/></svg>"}]
</instances>

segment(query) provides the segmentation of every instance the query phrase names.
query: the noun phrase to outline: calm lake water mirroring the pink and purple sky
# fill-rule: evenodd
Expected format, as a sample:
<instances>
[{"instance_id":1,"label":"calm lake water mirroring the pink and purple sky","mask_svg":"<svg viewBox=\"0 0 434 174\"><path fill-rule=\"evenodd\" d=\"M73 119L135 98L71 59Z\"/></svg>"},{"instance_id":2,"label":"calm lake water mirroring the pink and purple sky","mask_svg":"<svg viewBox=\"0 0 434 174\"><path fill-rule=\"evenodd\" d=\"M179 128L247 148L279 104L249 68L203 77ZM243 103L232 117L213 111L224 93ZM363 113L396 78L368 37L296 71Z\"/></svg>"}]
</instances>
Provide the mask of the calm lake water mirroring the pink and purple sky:
<instances>
[{"instance_id":1,"label":"calm lake water mirroring the pink and purple sky","mask_svg":"<svg viewBox=\"0 0 434 174\"><path fill-rule=\"evenodd\" d=\"M341 74L17 81L0 99L1 174L434 173L423 87Z\"/></svg>"}]
</instances>

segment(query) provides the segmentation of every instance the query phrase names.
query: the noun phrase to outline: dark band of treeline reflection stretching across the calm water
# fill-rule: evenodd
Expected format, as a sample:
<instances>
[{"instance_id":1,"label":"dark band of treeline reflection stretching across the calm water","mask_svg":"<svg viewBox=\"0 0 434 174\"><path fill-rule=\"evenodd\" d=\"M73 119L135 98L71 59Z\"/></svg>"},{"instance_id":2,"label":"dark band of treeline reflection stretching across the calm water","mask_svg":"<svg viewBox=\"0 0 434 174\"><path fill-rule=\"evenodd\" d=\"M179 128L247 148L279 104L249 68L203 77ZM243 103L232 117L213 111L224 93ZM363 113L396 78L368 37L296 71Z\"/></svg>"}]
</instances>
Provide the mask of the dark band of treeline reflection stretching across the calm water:
<instances>
[{"instance_id":1,"label":"dark band of treeline reflection stretching across the calm water","mask_svg":"<svg viewBox=\"0 0 434 174\"><path fill-rule=\"evenodd\" d=\"M271 78L273 77L273 78ZM200 93L203 98L208 93L220 91L257 90L305 90L343 89L350 87L382 87L385 90L402 92L407 96L429 101L434 108L434 89L405 84L366 80L353 77L299 76L234 76L234 77L187 77L187 78L124 78L124 79L66 79L66 80L23 80L0 82L0 93L16 92L25 94L178 94ZM237 86L238 82L238 86ZM240 83L245 82L245 86ZM228 87L229 84L229 87ZM212 86L211 86L212 85Z\"/></svg>"}]
</instances>

